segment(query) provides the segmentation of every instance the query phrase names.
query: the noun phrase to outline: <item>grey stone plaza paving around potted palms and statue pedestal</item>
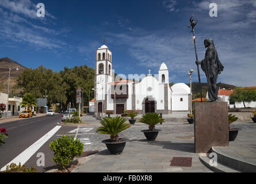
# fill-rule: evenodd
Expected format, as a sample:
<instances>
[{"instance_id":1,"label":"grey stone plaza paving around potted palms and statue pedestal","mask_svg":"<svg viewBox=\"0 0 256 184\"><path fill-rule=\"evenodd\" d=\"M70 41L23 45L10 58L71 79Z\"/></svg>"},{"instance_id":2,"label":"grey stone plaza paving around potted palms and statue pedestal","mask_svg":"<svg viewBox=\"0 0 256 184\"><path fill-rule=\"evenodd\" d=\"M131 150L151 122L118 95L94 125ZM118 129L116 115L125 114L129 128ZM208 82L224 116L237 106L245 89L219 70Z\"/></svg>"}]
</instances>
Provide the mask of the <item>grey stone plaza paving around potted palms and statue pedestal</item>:
<instances>
[{"instance_id":1,"label":"grey stone plaza paving around potted palms and statue pedestal","mask_svg":"<svg viewBox=\"0 0 256 184\"><path fill-rule=\"evenodd\" d=\"M109 135L95 132L100 126L100 121L93 116L83 116L83 122L85 125L79 127L77 138L84 143L84 151L100 152L85 158L73 172L212 172L200 162L199 155L194 154L193 124L166 121L163 125L156 125L157 129L161 129L156 140L147 141L140 131L147 129L148 126L136 123L119 134L120 137L127 139L123 153L111 155L106 145L101 143L102 140L109 139ZM255 162L256 124L235 122L231 127L239 128L239 135L234 142L230 142L229 148L221 150L231 156L243 156L244 159ZM192 158L192 167L171 167L170 161L173 157Z\"/></svg>"}]
</instances>

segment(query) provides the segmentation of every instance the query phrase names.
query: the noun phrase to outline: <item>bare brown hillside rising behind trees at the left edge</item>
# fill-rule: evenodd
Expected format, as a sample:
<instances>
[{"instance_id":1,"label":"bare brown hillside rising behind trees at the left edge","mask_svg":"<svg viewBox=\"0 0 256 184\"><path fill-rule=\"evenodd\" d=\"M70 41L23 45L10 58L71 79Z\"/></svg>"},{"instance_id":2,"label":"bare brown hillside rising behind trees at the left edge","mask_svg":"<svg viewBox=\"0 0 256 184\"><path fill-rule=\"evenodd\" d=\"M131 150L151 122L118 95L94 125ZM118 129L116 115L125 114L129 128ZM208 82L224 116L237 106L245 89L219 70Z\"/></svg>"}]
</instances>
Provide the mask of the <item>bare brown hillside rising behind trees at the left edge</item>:
<instances>
[{"instance_id":1,"label":"bare brown hillside rising behind trees at the left edge","mask_svg":"<svg viewBox=\"0 0 256 184\"><path fill-rule=\"evenodd\" d=\"M18 70L16 68L18 67ZM20 63L15 62L8 57L3 57L0 59L0 92L7 93L8 91L8 76L9 68L14 68L10 72L10 93L16 93L17 91L17 78L26 67L22 66Z\"/></svg>"}]
</instances>

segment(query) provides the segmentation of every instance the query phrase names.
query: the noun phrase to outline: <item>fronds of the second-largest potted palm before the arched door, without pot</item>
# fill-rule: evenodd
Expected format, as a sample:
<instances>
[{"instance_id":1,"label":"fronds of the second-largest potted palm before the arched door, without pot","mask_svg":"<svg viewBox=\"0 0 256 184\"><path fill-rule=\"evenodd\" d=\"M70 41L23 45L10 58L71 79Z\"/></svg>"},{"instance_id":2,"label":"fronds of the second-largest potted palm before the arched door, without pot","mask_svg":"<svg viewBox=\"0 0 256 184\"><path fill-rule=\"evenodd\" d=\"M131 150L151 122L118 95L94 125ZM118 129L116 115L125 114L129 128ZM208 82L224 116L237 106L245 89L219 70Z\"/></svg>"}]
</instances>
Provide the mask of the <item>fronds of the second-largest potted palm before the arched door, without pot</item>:
<instances>
[{"instance_id":1,"label":"fronds of the second-largest potted palm before the arched door, without pot","mask_svg":"<svg viewBox=\"0 0 256 184\"><path fill-rule=\"evenodd\" d=\"M163 121L165 120L161 118L161 115L158 113L147 113L147 114L144 114L142 118L139 119L139 122L143 122L144 124L150 125L149 127L150 131L154 131L155 125Z\"/></svg>"}]
</instances>

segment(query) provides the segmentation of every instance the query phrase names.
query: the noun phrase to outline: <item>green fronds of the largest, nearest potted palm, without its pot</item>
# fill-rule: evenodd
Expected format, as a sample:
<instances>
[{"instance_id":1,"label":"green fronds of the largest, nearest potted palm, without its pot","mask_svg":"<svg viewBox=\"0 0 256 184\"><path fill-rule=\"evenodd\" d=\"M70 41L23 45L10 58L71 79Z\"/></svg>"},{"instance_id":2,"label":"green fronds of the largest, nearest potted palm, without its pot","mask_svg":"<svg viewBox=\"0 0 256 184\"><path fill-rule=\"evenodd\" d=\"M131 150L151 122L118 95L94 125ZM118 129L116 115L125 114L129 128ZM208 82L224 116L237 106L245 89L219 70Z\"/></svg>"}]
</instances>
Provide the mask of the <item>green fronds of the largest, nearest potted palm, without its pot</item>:
<instances>
[{"instance_id":1,"label":"green fronds of the largest, nearest potted palm, without its pot","mask_svg":"<svg viewBox=\"0 0 256 184\"><path fill-rule=\"evenodd\" d=\"M101 120L102 127L97 128L96 132L108 134L110 135L110 140L118 142L119 135L117 135L117 133L120 133L125 129L131 127L131 124L127 124L125 123L125 121L127 120L124 117L120 116L117 116L115 118L103 118L103 120Z\"/></svg>"}]
</instances>

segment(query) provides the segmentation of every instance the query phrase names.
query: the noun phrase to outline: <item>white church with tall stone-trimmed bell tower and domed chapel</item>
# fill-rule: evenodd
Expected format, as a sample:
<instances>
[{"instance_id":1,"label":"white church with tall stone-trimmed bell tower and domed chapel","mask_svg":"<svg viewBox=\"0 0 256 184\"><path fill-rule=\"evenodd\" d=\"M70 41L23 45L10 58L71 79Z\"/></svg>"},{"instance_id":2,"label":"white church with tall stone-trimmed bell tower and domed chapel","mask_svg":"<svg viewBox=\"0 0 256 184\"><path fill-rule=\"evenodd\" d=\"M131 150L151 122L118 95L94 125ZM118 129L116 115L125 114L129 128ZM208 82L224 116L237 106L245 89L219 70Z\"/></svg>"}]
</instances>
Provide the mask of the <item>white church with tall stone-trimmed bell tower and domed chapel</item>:
<instances>
[{"instance_id":1,"label":"white church with tall stone-trimmed bell tower and domed chapel","mask_svg":"<svg viewBox=\"0 0 256 184\"><path fill-rule=\"evenodd\" d=\"M90 102L90 114L121 114L150 112L169 114L189 112L190 87L185 83L169 86L169 71L165 63L159 68L158 78L150 74L139 81L116 80L114 77L112 52L106 45L96 51L94 99Z\"/></svg>"}]
</instances>

